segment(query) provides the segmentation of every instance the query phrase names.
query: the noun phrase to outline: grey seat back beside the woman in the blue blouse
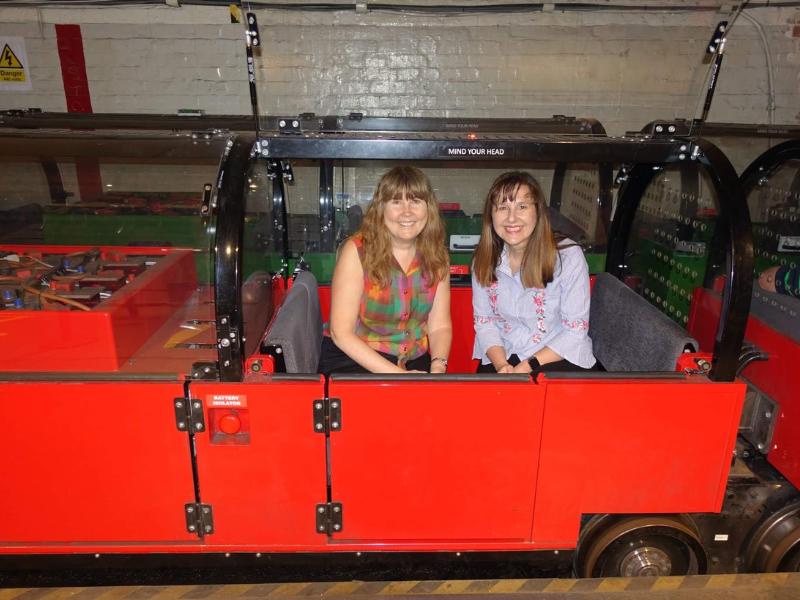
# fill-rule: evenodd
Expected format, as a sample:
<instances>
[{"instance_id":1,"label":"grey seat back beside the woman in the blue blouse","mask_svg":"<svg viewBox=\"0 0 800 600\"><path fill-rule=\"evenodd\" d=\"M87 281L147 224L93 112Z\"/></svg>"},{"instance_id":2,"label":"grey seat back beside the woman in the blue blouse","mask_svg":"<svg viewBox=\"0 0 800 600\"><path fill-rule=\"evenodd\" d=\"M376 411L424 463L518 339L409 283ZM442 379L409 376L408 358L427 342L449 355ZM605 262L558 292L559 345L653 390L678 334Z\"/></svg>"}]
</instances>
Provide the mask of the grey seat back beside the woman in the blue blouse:
<instances>
[{"instance_id":1,"label":"grey seat back beside the woman in the blue blouse","mask_svg":"<svg viewBox=\"0 0 800 600\"><path fill-rule=\"evenodd\" d=\"M699 348L683 327L609 273L595 278L589 336L607 371L674 371L684 349Z\"/></svg>"}]
</instances>

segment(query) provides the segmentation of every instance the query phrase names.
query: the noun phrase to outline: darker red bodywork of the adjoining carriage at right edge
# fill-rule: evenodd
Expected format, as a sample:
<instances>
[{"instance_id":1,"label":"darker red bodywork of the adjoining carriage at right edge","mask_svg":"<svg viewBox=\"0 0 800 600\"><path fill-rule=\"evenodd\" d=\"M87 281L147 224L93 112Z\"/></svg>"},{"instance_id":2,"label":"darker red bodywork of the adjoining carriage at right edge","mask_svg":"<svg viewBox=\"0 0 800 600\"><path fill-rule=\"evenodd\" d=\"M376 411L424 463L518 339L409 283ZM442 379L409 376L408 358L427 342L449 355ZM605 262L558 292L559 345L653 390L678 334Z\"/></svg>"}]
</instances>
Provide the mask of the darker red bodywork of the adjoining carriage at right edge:
<instances>
[{"instance_id":1,"label":"darker red bodywork of the adjoining carriage at right edge","mask_svg":"<svg viewBox=\"0 0 800 600\"><path fill-rule=\"evenodd\" d=\"M703 350L713 350L719 311L717 293L695 290L687 328ZM765 351L769 359L750 363L742 377L780 406L767 460L793 485L800 487L800 397L794 380L800 344L752 314L747 320L745 339Z\"/></svg>"}]
</instances>

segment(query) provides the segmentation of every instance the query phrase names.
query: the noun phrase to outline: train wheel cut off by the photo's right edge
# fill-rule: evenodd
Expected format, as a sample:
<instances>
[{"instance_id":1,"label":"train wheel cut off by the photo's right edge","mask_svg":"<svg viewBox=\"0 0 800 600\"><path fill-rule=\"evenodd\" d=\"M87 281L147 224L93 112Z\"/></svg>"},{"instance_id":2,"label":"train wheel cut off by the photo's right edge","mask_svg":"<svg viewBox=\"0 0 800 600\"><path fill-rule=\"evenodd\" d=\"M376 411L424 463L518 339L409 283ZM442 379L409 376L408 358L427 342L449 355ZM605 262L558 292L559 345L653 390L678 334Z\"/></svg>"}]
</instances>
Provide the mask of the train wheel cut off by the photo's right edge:
<instances>
[{"instance_id":1,"label":"train wheel cut off by the photo's right edge","mask_svg":"<svg viewBox=\"0 0 800 600\"><path fill-rule=\"evenodd\" d=\"M750 571L800 571L800 503L770 515L753 534L748 549Z\"/></svg>"}]
</instances>

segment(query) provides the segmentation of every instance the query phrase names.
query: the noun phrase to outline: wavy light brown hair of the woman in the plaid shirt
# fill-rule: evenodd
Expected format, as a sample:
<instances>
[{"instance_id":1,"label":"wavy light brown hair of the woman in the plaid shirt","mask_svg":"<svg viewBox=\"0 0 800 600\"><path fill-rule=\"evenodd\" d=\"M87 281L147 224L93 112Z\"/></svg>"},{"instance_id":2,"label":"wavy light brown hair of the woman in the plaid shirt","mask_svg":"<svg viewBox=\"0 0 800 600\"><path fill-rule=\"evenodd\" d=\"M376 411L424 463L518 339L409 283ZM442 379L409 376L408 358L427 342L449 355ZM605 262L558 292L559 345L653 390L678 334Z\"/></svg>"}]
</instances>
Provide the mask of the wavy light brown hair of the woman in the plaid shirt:
<instances>
[{"instance_id":1,"label":"wavy light brown hair of the woman in the plaid shirt","mask_svg":"<svg viewBox=\"0 0 800 600\"><path fill-rule=\"evenodd\" d=\"M370 279L383 286L389 285L394 257L383 214L386 203L403 192L406 196L424 200L428 207L427 223L415 245L420 255L422 274L433 285L449 275L449 255L444 244L444 223L439 214L439 203L430 181L416 167L394 167L378 181L361 228L356 233L364 242L364 270Z\"/></svg>"}]
</instances>

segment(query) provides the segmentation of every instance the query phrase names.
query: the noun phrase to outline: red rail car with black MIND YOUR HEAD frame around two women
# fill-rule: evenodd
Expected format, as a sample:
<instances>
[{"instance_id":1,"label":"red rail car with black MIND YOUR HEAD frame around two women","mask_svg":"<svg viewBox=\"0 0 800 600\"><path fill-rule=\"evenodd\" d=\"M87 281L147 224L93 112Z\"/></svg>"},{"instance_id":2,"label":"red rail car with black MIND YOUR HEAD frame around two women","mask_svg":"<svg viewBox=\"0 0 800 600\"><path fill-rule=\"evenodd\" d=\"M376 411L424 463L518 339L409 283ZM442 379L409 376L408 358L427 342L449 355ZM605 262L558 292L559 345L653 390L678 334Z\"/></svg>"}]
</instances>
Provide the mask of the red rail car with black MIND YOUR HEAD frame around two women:
<instances>
[{"instance_id":1,"label":"red rail car with black MIND YOUR HEAD frame around two women","mask_svg":"<svg viewBox=\"0 0 800 600\"><path fill-rule=\"evenodd\" d=\"M137 136L148 141L150 156L128 160L145 169L158 143ZM84 150L105 148L110 137L72 135ZM733 572L760 564L742 561L757 553L750 540L762 523L758 513L766 514L777 495L765 494L755 510L752 500L744 507L742 498L773 483L758 465L733 460L746 390L736 370L752 238L732 168L712 145L592 135L278 131L223 141L209 224L213 278L170 247L0 249L7 269L19 271L27 256L43 263L35 271L46 272L38 283L25 272L25 285L38 286L34 292L15 288L16 299L32 305L0 311L0 331L11 342L0 367L0 416L13 424L0 442L9 457L0 477L11 490L0 498L0 553L526 551L581 576ZM467 151L458 163L454 149ZM477 180L471 177L486 179L486 169L509 165L629 165L608 272L593 285L590 330L601 362L620 366L537 381L472 374L470 292L454 284L448 374L315 374L310 365L329 292L302 269L295 277L268 271L276 249L283 253L278 262L293 258L290 193L302 204L305 169L321 181L326 167L314 165L330 160L338 161L341 182L355 182L353 197L362 177L399 161L452 169L435 175L455 174L468 186ZM697 161L714 182L725 224L719 242L730 265L717 341L703 348L693 348L686 330L664 324L667 317L621 281L631 222L650 181L645 173L684 160ZM111 183L119 165L101 160L98 172ZM288 189L289 179L297 180L297 192ZM254 210L259 203L268 210ZM324 236L336 224L319 225ZM84 271L96 274L113 252L151 257L152 264L88 311L48 298L54 292L44 285L56 275L86 277L65 266L67 255L83 257ZM171 266L181 261L181 268ZM21 279L6 277L15 276ZM127 296L133 300L122 302ZM117 311L141 318L141 327L115 329L112 317L103 359L117 363L92 359L83 332L71 332L85 327L83 317ZM37 321L48 312L58 313L60 329ZM18 319L28 325L13 325ZM674 351L650 362L636 356L645 366L625 368L634 362L625 343L632 336ZM14 338L28 349L36 340L48 355L46 368L27 359L16 364ZM796 500L791 485L783 490ZM763 568L790 564L793 531L772 534L784 547Z\"/></svg>"}]
</instances>

